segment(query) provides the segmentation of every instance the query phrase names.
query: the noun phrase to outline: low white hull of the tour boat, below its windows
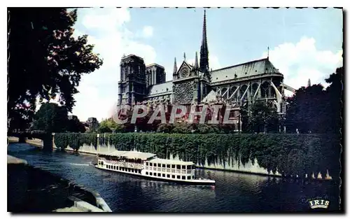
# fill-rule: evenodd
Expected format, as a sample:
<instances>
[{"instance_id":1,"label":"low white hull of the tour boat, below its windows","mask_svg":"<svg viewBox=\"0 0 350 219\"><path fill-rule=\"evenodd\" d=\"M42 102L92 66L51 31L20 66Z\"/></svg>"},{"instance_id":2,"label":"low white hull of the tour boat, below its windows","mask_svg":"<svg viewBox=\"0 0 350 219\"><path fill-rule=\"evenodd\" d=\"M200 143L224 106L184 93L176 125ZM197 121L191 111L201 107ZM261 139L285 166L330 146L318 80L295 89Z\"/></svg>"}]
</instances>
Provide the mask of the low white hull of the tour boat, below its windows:
<instances>
[{"instance_id":1,"label":"low white hull of the tour boat, below its windows","mask_svg":"<svg viewBox=\"0 0 350 219\"><path fill-rule=\"evenodd\" d=\"M135 173L135 172L128 172L128 171L122 171L122 170L117 170L117 169L107 169L104 167L99 167L99 165L94 165L94 167L97 167L98 169L104 169L107 171L113 171L113 172L118 172L118 173L123 173L123 174L130 174L134 176L141 176L145 178L152 178L157 181L167 181L167 182L174 182L174 183L181 183L181 184L192 184L192 185L215 185L215 181L209 180L209 179L179 179L179 178L165 178L165 177L160 177L160 176L149 176L145 174L145 170L141 170L140 173Z\"/></svg>"}]
</instances>

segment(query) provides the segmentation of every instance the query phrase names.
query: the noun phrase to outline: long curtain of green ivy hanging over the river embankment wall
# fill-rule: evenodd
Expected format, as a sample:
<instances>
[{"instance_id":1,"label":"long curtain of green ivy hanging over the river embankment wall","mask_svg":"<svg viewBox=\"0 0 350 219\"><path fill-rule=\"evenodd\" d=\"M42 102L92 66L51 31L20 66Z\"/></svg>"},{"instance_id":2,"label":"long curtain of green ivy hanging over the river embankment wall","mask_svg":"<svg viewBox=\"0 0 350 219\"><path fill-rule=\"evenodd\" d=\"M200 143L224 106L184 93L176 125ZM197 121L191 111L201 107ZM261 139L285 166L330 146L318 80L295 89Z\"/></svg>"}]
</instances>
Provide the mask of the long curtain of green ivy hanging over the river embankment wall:
<instances>
[{"instance_id":1,"label":"long curtain of green ivy hanging over the river embankment wall","mask_svg":"<svg viewBox=\"0 0 350 219\"><path fill-rule=\"evenodd\" d=\"M75 149L83 143L95 144L96 134L56 134L59 148ZM85 140L83 140L85 139ZM339 141L336 136L322 134L101 134L100 145L118 150L155 153L160 158L178 155L181 160L203 165L258 162L268 172L283 176L304 176L328 169L333 178L339 176Z\"/></svg>"}]
</instances>

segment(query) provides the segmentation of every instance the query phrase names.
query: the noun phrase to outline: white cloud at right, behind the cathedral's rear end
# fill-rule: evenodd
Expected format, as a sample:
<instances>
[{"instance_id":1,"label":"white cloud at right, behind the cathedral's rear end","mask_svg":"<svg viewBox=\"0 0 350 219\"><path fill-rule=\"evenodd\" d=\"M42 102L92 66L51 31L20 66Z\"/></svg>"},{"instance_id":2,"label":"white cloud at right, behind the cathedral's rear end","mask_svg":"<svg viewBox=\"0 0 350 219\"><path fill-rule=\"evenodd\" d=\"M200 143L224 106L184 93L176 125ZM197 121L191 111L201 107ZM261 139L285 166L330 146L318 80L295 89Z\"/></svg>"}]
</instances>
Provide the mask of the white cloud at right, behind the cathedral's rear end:
<instances>
[{"instance_id":1,"label":"white cloud at right, behind the cathedral's rear end","mask_svg":"<svg viewBox=\"0 0 350 219\"><path fill-rule=\"evenodd\" d=\"M267 57L267 52L262 57ZM269 51L269 59L283 73L286 85L298 89L310 79L311 85L327 86L325 78L342 66L342 50L318 50L314 38L302 37L296 44L276 46Z\"/></svg>"}]
</instances>

